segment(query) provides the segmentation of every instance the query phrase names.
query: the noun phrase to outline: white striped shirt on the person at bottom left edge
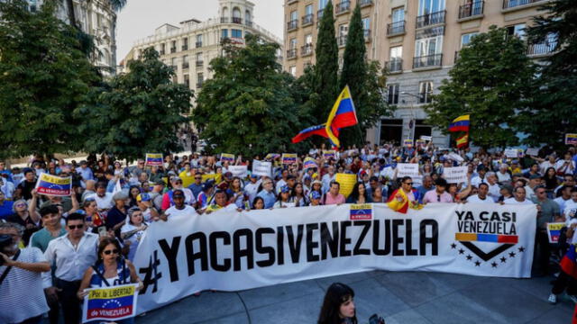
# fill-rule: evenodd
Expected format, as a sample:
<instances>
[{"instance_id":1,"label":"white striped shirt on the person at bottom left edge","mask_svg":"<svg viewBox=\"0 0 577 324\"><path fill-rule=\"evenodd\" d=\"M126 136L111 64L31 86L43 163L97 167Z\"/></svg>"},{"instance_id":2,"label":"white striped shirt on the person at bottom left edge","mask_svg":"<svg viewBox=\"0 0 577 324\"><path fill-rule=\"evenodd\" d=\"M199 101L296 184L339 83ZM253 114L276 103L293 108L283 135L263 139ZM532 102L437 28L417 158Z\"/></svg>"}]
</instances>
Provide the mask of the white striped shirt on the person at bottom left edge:
<instances>
[{"instance_id":1,"label":"white striped shirt on the person at bottom left edge","mask_svg":"<svg viewBox=\"0 0 577 324\"><path fill-rule=\"evenodd\" d=\"M17 261L26 263L46 262L38 247L20 250ZM0 275L6 266L0 266ZM41 273L13 266L0 284L0 323L20 323L50 310L42 289Z\"/></svg>"}]
</instances>

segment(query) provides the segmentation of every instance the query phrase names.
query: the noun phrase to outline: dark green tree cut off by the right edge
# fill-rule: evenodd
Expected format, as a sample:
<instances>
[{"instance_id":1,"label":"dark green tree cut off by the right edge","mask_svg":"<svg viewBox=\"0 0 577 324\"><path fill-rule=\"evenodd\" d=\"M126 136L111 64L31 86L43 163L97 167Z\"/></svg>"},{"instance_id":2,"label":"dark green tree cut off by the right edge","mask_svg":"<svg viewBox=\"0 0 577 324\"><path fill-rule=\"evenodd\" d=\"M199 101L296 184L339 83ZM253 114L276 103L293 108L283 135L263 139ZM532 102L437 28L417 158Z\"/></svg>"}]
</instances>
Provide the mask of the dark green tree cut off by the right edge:
<instances>
[{"instance_id":1,"label":"dark green tree cut off by the right edge","mask_svg":"<svg viewBox=\"0 0 577 324\"><path fill-rule=\"evenodd\" d=\"M557 0L541 10L545 16L536 17L528 41L554 54L538 65L536 104L521 113L519 130L527 133L527 144L560 148L564 134L577 130L577 2Z\"/></svg>"}]
</instances>

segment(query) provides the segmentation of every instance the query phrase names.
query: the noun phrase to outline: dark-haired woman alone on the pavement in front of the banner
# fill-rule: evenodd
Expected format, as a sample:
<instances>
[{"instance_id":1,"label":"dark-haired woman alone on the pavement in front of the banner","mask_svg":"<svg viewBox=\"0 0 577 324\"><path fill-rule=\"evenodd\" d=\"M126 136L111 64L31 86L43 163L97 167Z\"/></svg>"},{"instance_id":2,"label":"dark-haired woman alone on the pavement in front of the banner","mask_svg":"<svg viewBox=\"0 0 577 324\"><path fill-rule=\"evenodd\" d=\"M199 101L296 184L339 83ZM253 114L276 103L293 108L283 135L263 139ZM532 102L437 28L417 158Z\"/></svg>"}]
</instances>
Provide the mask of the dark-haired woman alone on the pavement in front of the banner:
<instances>
[{"instance_id":1,"label":"dark-haired woman alone on the pavement in front of the banner","mask_svg":"<svg viewBox=\"0 0 577 324\"><path fill-rule=\"evenodd\" d=\"M357 324L354 292L346 284L334 283L326 290L317 324Z\"/></svg>"}]
</instances>

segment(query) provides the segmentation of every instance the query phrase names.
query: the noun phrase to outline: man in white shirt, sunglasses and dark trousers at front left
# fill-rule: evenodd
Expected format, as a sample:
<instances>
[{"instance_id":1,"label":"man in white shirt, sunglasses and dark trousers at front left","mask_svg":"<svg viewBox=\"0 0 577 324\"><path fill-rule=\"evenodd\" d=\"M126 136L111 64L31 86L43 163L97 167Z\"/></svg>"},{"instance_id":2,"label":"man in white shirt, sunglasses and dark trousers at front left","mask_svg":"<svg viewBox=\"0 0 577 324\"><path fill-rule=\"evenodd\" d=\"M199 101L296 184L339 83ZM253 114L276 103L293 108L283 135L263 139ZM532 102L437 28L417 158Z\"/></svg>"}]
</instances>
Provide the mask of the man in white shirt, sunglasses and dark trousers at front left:
<instances>
[{"instance_id":1,"label":"man in white shirt, sunglasses and dark trousers at front left","mask_svg":"<svg viewBox=\"0 0 577 324\"><path fill-rule=\"evenodd\" d=\"M56 266L53 283L50 273L44 275L44 288L49 298L58 298L64 323L78 324L81 318L78 288L84 272L96 263L98 236L85 231L84 215L79 213L69 215L66 229L68 234L52 239L44 252L50 265Z\"/></svg>"}]
</instances>

